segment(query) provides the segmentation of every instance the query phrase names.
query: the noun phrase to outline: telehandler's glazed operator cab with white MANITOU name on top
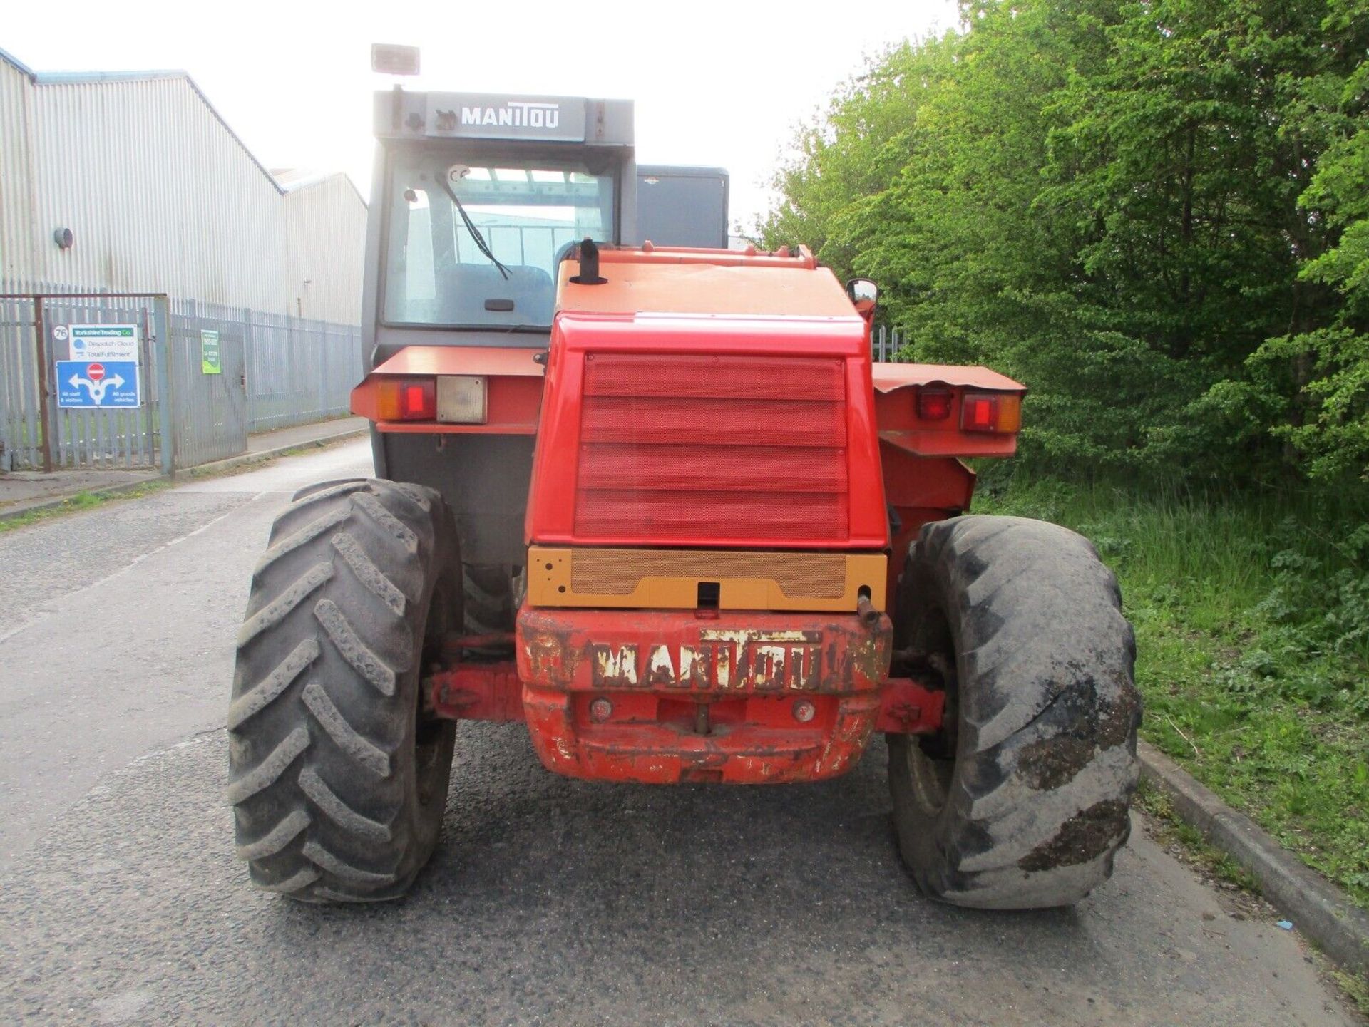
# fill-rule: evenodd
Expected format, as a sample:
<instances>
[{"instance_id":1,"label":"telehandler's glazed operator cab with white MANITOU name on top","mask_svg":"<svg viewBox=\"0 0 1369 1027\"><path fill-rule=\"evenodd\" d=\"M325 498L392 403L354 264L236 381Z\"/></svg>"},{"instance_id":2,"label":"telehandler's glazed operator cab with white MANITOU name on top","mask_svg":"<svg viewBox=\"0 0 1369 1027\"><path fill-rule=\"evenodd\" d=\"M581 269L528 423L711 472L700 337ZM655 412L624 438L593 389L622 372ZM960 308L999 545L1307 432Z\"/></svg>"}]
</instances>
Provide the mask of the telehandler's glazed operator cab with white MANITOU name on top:
<instances>
[{"instance_id":1,"label":"telehandler's glazed operator cab with white MANITOU name on top","mask_svg":"<svg viewBox=\"0 0 1369 1027\"><path fill-rule=\"evenodd\" d=\"M375 129L375 362L413 343L542 349L560 258L635 237L628 100L394 90Z\"/></svg>"}]
</instances>

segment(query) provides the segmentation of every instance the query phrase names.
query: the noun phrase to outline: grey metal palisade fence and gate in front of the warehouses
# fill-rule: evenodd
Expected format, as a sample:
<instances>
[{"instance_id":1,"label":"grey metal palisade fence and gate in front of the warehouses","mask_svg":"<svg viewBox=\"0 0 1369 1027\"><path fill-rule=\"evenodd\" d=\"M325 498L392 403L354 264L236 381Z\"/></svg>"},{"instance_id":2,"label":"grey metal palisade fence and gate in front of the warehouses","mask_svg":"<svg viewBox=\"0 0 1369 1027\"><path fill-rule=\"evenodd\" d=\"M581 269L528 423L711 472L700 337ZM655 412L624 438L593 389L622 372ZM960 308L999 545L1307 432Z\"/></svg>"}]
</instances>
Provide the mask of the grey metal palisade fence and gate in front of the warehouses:
<instances>
[{"instance_id":1,"label":"grey metal palisade fence and gate in front of the warehouses","mask_svg":"<svg viewBox=\"0 0 1369 1027\"><path fill-rule=\"evenodd\" d=\"M137 406L62 406L56 362L86 324L134 325ZM360 377L355 324L152 293L0 294L0 470L171 473L245 453L249 431L346 414Z\"/></svg>"}]
</instances>

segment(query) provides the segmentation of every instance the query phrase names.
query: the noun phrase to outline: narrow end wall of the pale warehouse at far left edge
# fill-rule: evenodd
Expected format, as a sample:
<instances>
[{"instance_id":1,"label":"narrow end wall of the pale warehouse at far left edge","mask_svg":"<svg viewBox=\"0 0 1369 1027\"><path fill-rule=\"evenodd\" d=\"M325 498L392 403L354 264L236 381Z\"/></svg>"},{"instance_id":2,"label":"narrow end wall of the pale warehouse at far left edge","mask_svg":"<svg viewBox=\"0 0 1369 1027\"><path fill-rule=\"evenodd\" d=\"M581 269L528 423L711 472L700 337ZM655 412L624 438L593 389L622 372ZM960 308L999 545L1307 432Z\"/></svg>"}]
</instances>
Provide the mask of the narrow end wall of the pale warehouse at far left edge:
<instances>
[{"instance_id":1,"label":"narrow end wall of the pale warehouse at far left edge","mask_svg":"<svg viewBox=\"0 0 1369 1027\"><path fill-rule=\"evenodd\" d=\"M0 57L0 293L19 291L33 265L33 81Z\"/></svg>"}]
</instances>

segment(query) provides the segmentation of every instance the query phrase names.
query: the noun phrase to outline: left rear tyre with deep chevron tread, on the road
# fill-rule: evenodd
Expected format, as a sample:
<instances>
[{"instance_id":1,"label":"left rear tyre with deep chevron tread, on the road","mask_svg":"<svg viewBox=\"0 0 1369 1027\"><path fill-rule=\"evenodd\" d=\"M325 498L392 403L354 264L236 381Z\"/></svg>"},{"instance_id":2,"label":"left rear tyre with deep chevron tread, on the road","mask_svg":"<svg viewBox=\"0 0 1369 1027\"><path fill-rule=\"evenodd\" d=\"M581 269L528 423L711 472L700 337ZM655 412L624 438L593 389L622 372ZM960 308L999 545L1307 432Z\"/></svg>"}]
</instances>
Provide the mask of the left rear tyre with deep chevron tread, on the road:
<instances>
[{"instance_id":1,"label":"left rear tyre with deep chevron tread, on the road","mask_svg":"<svg viewBox=\"0 0 1369 1027\"><path fill-rule=\"evenodd\" d=\"M237 855L305 901L402 894L437 845L456 725L423 667L461 624L442 498L366 479L301 490L252 577L229 707Z\"/></svg>"}]
</instances>

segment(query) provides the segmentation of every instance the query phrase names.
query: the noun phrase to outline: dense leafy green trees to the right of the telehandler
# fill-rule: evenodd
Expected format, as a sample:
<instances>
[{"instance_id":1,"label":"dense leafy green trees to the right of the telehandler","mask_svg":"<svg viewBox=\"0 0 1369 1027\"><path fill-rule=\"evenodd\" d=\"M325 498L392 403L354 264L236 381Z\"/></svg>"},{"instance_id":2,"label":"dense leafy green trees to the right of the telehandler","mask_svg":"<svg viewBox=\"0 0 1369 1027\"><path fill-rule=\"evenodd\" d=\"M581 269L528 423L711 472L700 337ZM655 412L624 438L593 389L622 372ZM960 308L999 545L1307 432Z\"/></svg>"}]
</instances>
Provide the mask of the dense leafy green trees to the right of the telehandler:
<instances>
[{"instance_id":1,"label":"dense leafy green trees to the right of the telehandler","mask_svg":"<svg viewBox=\"0 0 1369 1027\"><path fill-rule=\"evenodd\" d=\"M838 92L761 234L880 280L912 356L1027 382L1038 461L1335 473L1369 444L1365 5L965 3Z\"/></svg>"}]
</instances>

